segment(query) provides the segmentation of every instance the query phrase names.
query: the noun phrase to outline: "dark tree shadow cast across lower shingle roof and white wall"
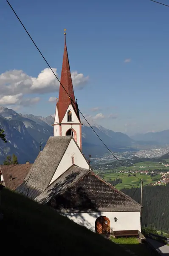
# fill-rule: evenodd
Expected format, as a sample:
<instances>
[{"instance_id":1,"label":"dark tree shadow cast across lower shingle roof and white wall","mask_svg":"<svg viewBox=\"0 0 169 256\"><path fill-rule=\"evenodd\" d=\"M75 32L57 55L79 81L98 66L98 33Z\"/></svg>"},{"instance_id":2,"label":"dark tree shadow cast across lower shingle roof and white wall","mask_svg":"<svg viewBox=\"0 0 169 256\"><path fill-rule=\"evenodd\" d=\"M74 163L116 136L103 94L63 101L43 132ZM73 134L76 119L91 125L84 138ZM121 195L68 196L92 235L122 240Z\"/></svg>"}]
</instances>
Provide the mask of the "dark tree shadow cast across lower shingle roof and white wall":
<instances>
[{"instance_id":1,"label":"dark tree shadow cast across lower shingle roof and white wall","mask_svg":"<svg viewBox=\"0 0 169 256\"><path fill-rule=\"evenodd\" d=\"M63 175L62 179L59 178L51 184L45 198L40 203L47 204L57 212L65 216L68 215L70 219L76 219L78 224L93 230L90 221L87 221L82 213L87 212L95 220L101 216L101 213L96 207L95 195L87 192L82 185L78 186L81 176L80 172L73 171L68 175Z\"/></svg>"}]
</instances>

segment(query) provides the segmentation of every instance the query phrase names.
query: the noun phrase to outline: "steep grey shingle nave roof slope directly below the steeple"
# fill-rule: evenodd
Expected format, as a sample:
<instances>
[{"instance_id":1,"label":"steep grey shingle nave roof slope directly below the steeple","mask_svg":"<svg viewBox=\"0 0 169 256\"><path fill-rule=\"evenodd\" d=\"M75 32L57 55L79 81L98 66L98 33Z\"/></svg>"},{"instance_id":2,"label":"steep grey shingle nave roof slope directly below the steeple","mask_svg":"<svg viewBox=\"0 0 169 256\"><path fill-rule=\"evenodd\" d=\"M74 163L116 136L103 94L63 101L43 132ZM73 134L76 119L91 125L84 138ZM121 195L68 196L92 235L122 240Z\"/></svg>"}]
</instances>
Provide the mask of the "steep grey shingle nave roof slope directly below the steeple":
<instances>
[{"instance_id":1,"label":"steep grey shingle nave roof slope directly below the steeple","mask_svg":"<svg viewBox=\"0 0 169 256\"><path fill-rule=\"evenodd\" d=\"M69 143L71 136L49 137L45 148L38 155L26 183L45 191L53 177Z\"/></svg>"}]
</instances>

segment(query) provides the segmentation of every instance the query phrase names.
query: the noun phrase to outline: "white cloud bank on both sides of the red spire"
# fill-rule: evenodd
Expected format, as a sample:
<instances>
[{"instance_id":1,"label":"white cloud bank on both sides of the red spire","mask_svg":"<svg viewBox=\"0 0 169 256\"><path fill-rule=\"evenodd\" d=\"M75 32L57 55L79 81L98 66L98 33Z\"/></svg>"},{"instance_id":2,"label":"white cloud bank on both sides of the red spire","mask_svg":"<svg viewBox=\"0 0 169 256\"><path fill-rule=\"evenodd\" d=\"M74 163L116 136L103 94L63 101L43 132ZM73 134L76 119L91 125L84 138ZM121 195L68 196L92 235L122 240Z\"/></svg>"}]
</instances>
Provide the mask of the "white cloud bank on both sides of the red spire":
<instances>
[{"instance_id":1,"label":"white cloud bank on both sides of the red spire","mask_svg":"<svg viewBox=\"0 0 169 256\"><path fill-rule=\"evenodd\" d=\"M56 76L57 69L52 68ZM74 88L82 89L89 77L85 77L82 73L78 74L76 71L71 73ZM26 94L33 93L50 93L59 90L59 82L49 68L45 68L39 73L37 77L28 76L23 70L10 70L0 75L0 104L18 104L22 103L21 99ZM37 103L39 98L27 99L28 105Z\"/></svg>"}]
</instances>

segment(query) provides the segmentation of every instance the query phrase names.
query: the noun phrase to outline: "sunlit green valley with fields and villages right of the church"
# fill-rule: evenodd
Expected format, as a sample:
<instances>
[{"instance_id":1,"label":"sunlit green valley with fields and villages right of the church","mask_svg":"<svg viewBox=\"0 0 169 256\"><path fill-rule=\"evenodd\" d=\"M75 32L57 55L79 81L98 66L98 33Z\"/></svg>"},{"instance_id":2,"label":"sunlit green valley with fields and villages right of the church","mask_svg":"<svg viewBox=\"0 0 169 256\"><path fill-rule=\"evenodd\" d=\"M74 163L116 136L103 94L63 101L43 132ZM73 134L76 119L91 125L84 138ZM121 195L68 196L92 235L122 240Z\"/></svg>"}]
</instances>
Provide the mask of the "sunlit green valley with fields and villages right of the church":
<instances>
[{"instance_id":1,"label":"sunlit green valley with fields and villages right of the church","mask_svg":"<svg viewBox=\"0 0 169 256\"><path fill-rule=\"evenodd\" d=\"M96 169L95 167L94 171L119 190L135 188L137 186L141 187L139 179L143 179L144 186L165 185L169 183L169 159L163 159L159 162L157 158L156 162L149 160L133 163L127 169L123 166L110 168L105 165L101 169Z\"/></svg>"}]
</instances>

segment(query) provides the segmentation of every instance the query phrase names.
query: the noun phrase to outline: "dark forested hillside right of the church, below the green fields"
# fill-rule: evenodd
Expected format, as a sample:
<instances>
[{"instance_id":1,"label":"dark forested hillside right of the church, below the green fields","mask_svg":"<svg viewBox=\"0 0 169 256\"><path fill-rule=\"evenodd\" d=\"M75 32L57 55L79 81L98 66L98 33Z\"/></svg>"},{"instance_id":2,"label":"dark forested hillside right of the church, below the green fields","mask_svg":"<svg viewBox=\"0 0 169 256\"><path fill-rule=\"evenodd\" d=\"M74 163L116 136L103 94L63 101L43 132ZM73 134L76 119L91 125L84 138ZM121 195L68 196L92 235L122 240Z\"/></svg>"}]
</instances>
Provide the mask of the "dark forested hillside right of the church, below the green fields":
<instances>
[{"instance_id":1,"label":"dark forested hillside right of the church, below the green fields","mask_svg":"<svg viewBox=\"0 0 169 256\"><path fill-rule=\"evenodd\" d=\"M122 189L122 192L140 203L141 189ZM142 202L142 226L153 226L157 230L169 231L169 184L166 186L144 186Z\"/></svg>"}]
</instances>

